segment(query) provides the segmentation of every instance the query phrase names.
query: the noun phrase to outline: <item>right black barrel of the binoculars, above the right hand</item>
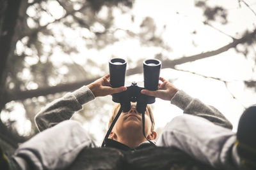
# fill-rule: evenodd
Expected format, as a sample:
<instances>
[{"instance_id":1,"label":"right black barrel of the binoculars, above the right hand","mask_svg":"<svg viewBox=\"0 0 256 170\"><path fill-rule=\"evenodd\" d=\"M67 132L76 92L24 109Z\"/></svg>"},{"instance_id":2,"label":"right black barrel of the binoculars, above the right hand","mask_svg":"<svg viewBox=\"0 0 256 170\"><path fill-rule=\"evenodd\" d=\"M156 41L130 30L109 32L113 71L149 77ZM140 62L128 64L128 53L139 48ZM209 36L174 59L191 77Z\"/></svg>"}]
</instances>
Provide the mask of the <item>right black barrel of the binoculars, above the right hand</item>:
<instances>
[{"instance_id":1,"label":"right black barrel of the binoculars, above the right hand","mask_svg":"<svg viewBox=\"0 0 256 170\"><path fill-rule=\"evenodd\" d=\"M147 90L157 90L161 61L149 59L143 61L144 87Z\"/></svg>"}]
</instances>

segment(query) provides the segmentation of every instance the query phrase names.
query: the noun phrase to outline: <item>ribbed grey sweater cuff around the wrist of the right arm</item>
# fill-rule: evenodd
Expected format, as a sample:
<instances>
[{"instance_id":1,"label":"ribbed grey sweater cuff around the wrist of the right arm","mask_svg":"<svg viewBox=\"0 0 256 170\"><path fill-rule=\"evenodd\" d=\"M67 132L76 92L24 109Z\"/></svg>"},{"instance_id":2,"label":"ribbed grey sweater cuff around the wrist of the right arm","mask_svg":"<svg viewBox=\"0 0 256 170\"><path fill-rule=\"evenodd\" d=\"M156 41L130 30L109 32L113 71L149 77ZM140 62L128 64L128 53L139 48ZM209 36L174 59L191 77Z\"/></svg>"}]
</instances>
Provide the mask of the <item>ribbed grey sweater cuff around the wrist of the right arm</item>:
<instances>
[{"instance_id":1,"label":"ribbed grey sweater cuff around the wrist of the right arm","mask_svg":"<svg viewBox=\"0 0 256 170\"><path fill-rule=\"evenodd\" d=\"M171 99L171 103L184 110L186 106L193 100L193 97L186 94L184 91L179 90Z\"/></svg>"}]
</instances>

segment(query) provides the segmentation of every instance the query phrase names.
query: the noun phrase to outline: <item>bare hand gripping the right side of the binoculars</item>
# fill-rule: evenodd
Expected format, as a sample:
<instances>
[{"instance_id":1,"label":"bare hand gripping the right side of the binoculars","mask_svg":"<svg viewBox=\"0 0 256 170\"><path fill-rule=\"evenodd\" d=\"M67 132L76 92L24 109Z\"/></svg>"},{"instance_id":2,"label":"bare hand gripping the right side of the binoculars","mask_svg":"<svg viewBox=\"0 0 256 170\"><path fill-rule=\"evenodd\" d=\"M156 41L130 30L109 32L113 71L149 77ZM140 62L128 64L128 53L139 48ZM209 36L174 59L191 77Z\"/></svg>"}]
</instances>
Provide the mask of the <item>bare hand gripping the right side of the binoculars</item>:
<instances>
[{"instance_id":1,"label":"bare hand gripping the right side of the binoculars","mask_svg":"<svg viewBox=\"0 0 256 170\"><path fill-rule=\"evenodd\" d=\"M158 90L156 91L141 90L141 93L148 96L158 97L165 101L170 101L172 97L179 91L179 89L174 87L172 83L170 83L169 81L166 81L162 77L160 77L159 80L161 80L163 83L159 83Z\"/></svg>"}]
</instances>

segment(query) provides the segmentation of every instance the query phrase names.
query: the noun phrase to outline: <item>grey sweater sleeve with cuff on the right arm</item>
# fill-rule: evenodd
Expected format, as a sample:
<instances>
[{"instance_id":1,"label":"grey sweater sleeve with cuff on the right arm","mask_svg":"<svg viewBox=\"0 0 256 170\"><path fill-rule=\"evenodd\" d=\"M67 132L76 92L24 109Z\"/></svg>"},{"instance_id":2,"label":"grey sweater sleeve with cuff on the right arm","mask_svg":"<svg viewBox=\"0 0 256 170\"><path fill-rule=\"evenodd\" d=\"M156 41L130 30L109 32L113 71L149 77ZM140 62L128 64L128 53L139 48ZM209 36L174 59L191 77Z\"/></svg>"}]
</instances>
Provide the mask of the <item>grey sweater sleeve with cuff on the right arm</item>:
<instances>
[{"instance_id":1,"label":"grey sweater sleeve with cuff on the right arm","mask_svg":"<svg viewBox=\"0 0 256 170\"><path fill-rule=\"evenodd\" d=\"M173 96L171 103L182 109L183 113L206 118L212 123L226 127L228 129L232 129L233 127L227 118L222 115L216 108L204 104L198 99L194 99L182 90L179 90L175 96Z\"/></svg>"}]
</instances>

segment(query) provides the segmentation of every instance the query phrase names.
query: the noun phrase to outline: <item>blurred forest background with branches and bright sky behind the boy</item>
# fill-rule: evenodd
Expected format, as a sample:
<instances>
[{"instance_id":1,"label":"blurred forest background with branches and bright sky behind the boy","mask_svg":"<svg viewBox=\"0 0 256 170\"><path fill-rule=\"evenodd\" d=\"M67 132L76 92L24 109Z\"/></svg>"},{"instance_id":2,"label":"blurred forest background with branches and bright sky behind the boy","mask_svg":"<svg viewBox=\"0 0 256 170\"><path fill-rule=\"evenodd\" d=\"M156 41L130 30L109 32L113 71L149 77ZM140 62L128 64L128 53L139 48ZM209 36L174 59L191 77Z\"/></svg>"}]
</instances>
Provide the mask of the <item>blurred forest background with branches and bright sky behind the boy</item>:
<instances>
[{"instance_id":1,"label":"blurred forest background with branches and bright sky behind the boy","mask_svg":"<svg viewBox=\"0 0 256 170\"><path fill-rule=\"evenodd\" d=\"M161 76L220 110L234 125L256 101L255 0L1 0L0 134L13 146L38 133L47 103L108 74L127 60L126 85L143 81L142 62L162 61ZM73 117L99 144L111 96ZM152 104L161 132L182 110Z\"/></svg>"}]
</instances>

